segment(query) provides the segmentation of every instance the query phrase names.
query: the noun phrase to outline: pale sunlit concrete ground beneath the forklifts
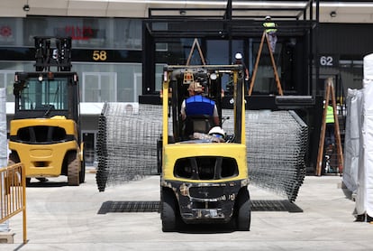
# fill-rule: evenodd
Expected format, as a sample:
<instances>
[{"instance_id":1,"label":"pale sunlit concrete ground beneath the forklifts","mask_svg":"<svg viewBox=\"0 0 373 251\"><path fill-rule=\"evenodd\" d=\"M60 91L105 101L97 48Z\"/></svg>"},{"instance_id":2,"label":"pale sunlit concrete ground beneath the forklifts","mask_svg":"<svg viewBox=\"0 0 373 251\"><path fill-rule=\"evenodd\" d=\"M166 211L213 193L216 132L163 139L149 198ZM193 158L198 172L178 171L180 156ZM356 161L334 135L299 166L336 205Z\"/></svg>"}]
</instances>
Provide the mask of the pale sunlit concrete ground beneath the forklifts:
<instances>
[{"instance_id":1,"label":"pale sunlit concrete ground beneath the forklifts","mask_svg":"<svg viewBox=\"0 0 373 251\"><path fill-rule=\"evenodd\" d=\"M372 250L373 225L354 222L355 203L341 190L339 176L306 176L296 200L303 212L261 204L284 200L250 185L257 205L248 232L219 226L163 233L159 213L159 176L108 187L99 192L96 174L86 173L79 187L61 176L27 188L27 239L22 214L10 220L14 244L0 250ZM132 201L132 202L131 202ZM150 212L123 211L146 201ZM132 203L132 204L131 204ZM131 205L130 205L131 204ZM145 203L146 204L146 203ZM131 207L130 207L131 208ZM133 210L133 209L132 209Z\"/></svg>"}]
</instances>

